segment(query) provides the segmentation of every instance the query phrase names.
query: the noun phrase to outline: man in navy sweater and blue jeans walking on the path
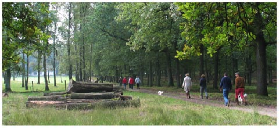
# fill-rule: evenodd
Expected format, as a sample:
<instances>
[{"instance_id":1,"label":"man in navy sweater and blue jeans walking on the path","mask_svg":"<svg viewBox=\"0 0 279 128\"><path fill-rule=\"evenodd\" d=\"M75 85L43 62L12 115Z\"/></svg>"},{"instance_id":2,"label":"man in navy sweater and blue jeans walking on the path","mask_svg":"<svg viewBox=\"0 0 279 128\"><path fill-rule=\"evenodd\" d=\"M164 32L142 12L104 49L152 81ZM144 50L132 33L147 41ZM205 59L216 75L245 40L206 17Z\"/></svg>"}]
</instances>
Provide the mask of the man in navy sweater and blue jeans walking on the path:
<instances>
[{"instance_id":1,"label":"man in navy sweater and blue jeans walking on the path","mask_svg":"<svg viewBox=\"0 0 279 128\"><path fill-rule=\"evenodd\" d=\"M222 91L223 88L223 97L225 100L225 106L230 106L230 100L228 99L229 92L232 89L232 84L231 84L231 78L228 77L228 73L224 73L224 77L221 79L220 82L220 91Z\"/></svg>"}]
</instances>

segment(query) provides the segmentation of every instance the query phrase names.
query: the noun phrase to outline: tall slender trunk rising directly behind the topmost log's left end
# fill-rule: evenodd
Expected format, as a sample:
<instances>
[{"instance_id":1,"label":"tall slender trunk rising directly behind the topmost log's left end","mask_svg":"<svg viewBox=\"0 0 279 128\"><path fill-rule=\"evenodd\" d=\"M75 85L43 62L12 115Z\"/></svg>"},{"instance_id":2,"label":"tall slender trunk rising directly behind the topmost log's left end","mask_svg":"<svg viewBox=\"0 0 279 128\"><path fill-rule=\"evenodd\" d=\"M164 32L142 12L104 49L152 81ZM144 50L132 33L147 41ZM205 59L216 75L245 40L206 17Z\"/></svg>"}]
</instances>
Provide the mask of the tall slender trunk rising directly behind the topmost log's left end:
<instances>
[{"instance_id":1,"label":"tall slender trunk rising directly behind the topmost log's left end","mask_svg":"<svg viewBox=\"0 0 279 128\"><path fill-rule=\"evenodd\" d=\"M69 23L68 23L68 40L67 40L67 50L68 50L68 62L70 62L71 50L70 50L70 31L71 31L71 11L72 3L69 3ZM69 63L69 80L72 79L72 63Z\"/></svg>"}]
</instances>

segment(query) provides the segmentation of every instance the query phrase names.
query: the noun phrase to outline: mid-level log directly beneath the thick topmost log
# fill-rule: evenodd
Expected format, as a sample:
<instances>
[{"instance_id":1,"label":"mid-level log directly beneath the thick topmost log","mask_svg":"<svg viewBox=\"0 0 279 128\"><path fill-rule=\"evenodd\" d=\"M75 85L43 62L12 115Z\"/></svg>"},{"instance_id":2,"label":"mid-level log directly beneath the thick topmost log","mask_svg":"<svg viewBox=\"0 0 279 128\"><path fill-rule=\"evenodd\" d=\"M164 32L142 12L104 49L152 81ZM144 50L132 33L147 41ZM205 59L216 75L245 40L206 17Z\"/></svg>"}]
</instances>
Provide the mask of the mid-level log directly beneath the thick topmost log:
<instances>
[{"instance_id":1,"label":"mid-level log directly beneath the thick topmost log","mask_svg":"<svg viewBox=\"0 0 279 128\"><path fill-rule=\"evenodd\" d=\"M74 93L71 92L71 99L112 99L116 95L113 92L108 93Z\"/></svg>"}]
</instances>

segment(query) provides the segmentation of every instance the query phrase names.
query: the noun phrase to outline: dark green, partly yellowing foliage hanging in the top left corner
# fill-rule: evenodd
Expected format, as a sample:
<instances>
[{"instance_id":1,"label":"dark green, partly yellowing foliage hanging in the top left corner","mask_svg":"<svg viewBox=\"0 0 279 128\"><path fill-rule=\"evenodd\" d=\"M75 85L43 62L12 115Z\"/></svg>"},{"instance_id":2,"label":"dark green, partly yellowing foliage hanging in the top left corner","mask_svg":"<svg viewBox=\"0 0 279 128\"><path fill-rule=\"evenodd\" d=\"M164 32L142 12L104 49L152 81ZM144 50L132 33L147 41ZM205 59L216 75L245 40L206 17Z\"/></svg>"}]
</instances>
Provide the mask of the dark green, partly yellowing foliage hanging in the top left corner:
<instances>
[{"instance_id":1,"label":"dark green, partly yellowing foliage hanging in the top left corner","mask_svg":"<svg viewBox=\"0 0 279 128\"><path fill-rule=\"evenodd\" d=\"M40 19L35 17L37 12L33 7L34 3L3 3L3 70L19 62L18 55L21 49L27 48L25 50L30 51L32 45L38 45L39 38L49 38L37 27ZM46 6L41 6L40 9L42 13L48 12ZM44 18L43 21L45 25L51 22L48 18Z\"/></svg>"}]
</instances>

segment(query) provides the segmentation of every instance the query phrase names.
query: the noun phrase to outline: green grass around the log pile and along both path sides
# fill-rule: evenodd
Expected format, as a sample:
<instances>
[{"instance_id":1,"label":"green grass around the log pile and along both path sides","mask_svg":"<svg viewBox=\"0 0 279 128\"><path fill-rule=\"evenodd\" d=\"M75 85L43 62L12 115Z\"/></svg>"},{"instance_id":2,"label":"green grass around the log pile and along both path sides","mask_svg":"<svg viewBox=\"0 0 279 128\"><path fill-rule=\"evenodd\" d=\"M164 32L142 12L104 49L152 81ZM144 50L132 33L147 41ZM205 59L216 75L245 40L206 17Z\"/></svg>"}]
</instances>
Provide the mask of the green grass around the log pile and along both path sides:
<instances>
[{"instance_id":1,"label":"green grass around the log pile and along both path sides","mask_svg":"<svg viewBox=\"0 0 279 128\"><path fill-rule=\"evenodd\" d=\"M12 90L21 88L20 81L11 82ZM41 82L43 83L43 81ZM257 112L246 113L127 90L124 91L124 95L139 97L141 107L97 108L86 111L66 111L55 108L26 109L25 102L28 96L43 96L44 84L42 83L36 85L42 86L40 89L42 92L9 93L9 97L3 98L3 125L276 125L276 118L262 116ZM49 86L51 88L51 84ZM51 88L51 91L48 92L64 91L64 86L64 83L59 82L58 87ZM142 88L183 92L182 89L176 87L143 86ZM247 93L252 95L249 101L259 100L262 104L276 106L276 87L268 88L269 97L256 96L253 91L254 86L246 88ZM198 96L198 90L199 87L194 85L192 95ZM208 92L211 97L220 97L220 92L210 87L208 87ZM261 98L265 100L261 100Z\"/></svg>"}]
</instances>

